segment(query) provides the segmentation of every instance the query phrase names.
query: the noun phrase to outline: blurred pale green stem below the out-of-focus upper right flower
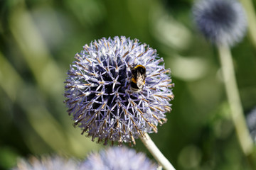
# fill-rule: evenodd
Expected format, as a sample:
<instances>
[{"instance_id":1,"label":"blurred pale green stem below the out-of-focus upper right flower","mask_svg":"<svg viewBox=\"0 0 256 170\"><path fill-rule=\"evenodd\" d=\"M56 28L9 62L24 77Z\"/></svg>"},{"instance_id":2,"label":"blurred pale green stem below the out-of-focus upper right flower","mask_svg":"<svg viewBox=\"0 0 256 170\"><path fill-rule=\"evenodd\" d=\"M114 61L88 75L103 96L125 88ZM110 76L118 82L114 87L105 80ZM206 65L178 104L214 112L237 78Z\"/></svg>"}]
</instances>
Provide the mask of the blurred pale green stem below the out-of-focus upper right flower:
<instances>
[{"instance_id":1,"label":"blurred pale green stem below the out-of-focus upper right flower","mask_svg":"<svg viewBox=\"0 0 256 170\"><path fill-rule=\"evenodd\" d=\"M235 71L230 48L225 45L218 45L218 52L235 132L238 136L242 152L246 156L249 156L253 152L253 142L245 123L245 115L242 111L242 103L235 80Z\"/></svg>"}]
</instances>

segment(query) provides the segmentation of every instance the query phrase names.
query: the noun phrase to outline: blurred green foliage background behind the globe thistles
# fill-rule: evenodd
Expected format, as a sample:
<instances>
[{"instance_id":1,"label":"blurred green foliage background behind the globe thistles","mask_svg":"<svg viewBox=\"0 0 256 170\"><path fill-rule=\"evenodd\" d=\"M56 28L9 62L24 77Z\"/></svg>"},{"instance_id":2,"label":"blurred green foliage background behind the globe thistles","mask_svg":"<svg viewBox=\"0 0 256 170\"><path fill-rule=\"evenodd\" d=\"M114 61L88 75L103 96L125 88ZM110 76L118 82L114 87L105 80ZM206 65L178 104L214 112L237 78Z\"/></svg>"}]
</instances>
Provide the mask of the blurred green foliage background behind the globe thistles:
<instances>
[{"instance_id":1,"label":"blurred green foliage background behind the globe thistles","mask_svg":"<svg viewBox=\"0 0 256 170\"><path fill-rule=\"evenodd\" d=\"M192 0L0 1L0 169L32 154L83 159L105 147L73 128L63 81L83 45L115 35L145 42L171 68L173 110L150 136L174 167L249 169L230 120L218 52L196 30L192 5ZM256 106L250 35L232 53L248 113ZM140 140L134 149L152 159Z\"/></svg>"}]
</instances>

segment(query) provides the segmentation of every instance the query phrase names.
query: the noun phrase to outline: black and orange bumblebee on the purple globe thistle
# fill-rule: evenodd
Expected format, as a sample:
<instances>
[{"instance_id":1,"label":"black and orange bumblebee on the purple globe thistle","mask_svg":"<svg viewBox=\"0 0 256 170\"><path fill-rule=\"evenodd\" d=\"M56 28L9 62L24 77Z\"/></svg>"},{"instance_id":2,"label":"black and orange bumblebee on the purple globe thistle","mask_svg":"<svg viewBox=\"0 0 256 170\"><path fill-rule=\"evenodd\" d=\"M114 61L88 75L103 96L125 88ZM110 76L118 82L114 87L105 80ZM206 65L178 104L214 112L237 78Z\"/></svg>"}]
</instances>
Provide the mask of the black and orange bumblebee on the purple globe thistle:
<instances>
[{"instance_id":1,"label":"black and orange bumblebee on the purple globe thistle","mask_svg":"<svg viewBox=\"0 0 256 170\"><path fill-rule=\"evenodd\" d=\"M142 91L145 84L146 68L143 65L137 65L132 68L131 90L134 92Z\"/></svg>"}]
</instances>

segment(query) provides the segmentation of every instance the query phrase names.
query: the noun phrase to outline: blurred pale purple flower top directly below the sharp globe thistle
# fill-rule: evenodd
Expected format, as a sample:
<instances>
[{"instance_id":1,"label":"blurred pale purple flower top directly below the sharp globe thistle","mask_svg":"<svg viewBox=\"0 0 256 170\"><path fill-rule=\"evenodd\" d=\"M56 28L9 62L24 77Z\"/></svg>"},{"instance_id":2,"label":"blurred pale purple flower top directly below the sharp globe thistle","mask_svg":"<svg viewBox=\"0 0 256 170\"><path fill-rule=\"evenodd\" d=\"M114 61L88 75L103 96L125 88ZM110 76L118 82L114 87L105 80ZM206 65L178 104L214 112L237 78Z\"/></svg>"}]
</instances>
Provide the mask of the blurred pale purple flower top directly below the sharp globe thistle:
<instances>
[{"instance_id":1,"label":"blurred pale purple flower top directly below the sharp globe thistle","mask_svg":"<svg viewBox=\"0 0 256 170\"><path fill-rule=\"evenodd\" d=\"M137 153L127 147L110 147L100 153L92 153L80 165L80 169L92 170L156 170L152 163L142 152Z\"/></svg>"}]
</instances>

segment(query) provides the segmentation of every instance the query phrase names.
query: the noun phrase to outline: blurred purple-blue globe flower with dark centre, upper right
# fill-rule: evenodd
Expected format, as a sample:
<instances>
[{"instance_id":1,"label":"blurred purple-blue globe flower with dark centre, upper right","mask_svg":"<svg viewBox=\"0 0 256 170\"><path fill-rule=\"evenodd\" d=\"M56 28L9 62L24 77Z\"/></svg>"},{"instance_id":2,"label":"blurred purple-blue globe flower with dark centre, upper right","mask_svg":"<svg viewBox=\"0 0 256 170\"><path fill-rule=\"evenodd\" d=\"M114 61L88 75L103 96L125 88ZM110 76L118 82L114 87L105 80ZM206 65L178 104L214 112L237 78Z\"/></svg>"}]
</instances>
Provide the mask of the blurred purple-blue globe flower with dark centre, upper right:
<instances>
[{"instance_id":1,"label":"blurred purple-blue globe flower with dark centre, upper right","mask_svg":"<svg viewBox=\"0 0 256 170\"><path fill-rule=\"evenodd\" d=\"M193 18L201 33L215 45L235 45L247 28L245 11L236 0L197 1Z\"/></svg>"}]
</instances>

